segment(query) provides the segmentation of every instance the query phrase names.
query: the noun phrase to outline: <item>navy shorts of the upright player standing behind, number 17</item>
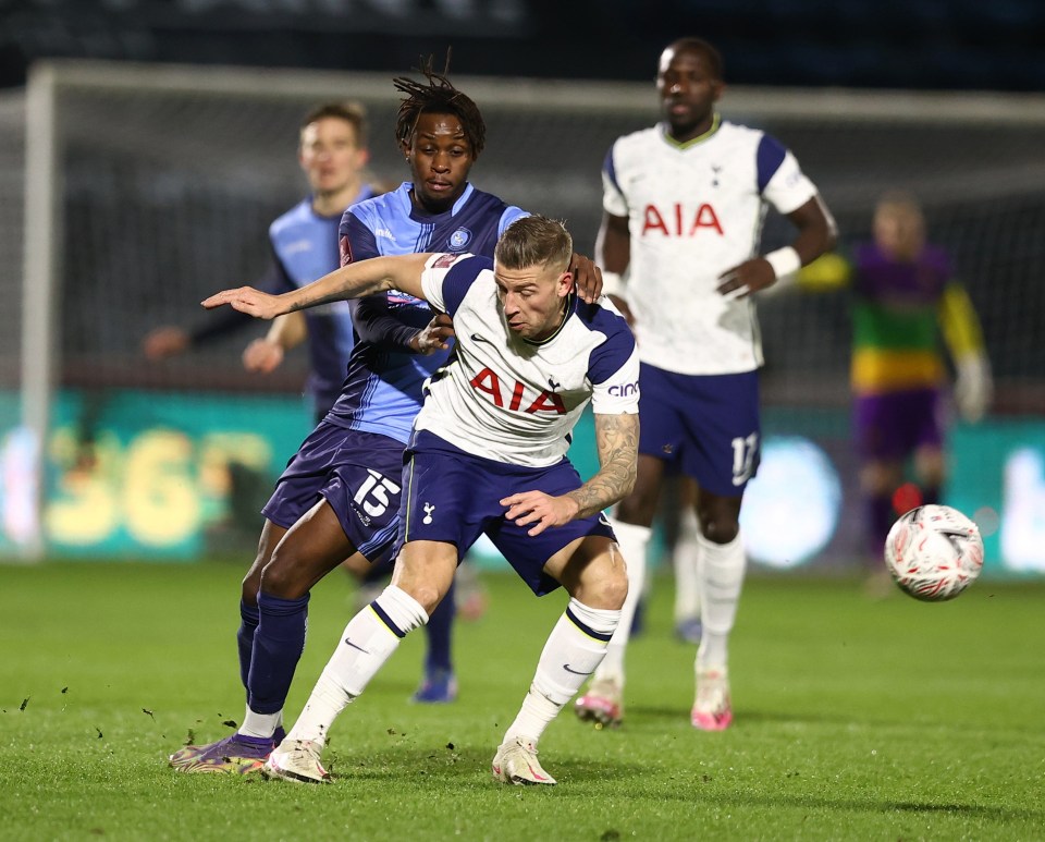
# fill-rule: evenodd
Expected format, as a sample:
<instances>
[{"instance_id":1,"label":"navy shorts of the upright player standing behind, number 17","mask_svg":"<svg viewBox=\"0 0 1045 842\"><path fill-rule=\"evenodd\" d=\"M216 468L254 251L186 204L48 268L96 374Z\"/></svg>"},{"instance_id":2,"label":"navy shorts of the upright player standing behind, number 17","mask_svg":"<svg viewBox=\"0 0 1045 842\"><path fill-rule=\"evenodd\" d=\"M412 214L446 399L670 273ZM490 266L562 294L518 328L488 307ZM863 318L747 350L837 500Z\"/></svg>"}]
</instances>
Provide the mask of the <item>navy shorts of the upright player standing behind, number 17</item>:
<instances>
[{"instance_id":1,"label":"navy shorts of the upright player standing behind, number 17","mask_svg":"<svg viewBox=\"0 0 1045 842\"><path fill-rule=\"evenodd\" d=\"M714 495L743 493L762 452L759 373L679 375L643 363L639 385L639 452Z\"/></svg>"}]
</instances>

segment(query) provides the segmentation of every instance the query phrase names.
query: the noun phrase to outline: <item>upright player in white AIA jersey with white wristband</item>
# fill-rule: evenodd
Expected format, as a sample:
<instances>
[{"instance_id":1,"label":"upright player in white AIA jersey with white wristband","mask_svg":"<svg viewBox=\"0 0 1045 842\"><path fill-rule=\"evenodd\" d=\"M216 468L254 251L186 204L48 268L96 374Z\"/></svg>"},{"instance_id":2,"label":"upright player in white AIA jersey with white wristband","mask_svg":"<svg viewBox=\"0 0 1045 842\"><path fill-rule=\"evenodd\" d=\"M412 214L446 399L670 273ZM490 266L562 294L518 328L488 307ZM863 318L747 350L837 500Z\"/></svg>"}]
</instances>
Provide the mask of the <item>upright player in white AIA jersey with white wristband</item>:
<instances>
[{"instance_id":1,"label":"upright player in white AIA jersey with white wristband","mask_svg":"<svg viewBox=\"0 0 1045 842\"><path fill-rule=\"evenodd\" d=\"M733 719L727 643L746 562L740 501L761 447L763 361L750 295L828 251L835 225L790 151L720 118L722 59L712 45L698 38L671 44L661 53L656 89L662 122L619 137L603 167L595 259L604 293L636 333L642 427L635 490L613 518L628 562L628 599L576 712L603 725L623 719L625 647L671 466L698 485L703 635L691 722L718 731ZM760 256L767 205L798 232L789 246Z\"/></svg>"}]
</instances>

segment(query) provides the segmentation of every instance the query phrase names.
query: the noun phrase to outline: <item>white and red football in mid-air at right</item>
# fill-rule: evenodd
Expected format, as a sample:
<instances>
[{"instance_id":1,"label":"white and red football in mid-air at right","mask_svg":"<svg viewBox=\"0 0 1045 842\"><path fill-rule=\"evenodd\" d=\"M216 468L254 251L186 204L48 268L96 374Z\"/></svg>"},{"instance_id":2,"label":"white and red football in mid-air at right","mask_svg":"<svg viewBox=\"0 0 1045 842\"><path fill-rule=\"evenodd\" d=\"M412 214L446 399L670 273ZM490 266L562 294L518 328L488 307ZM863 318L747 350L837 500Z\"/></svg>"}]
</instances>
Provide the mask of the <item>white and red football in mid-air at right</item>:
<instances>
[{"instance_id":1,"label":"white and red football in mid-air at right","mask_svg":"<svg viewBox=\"0 0 1045 842\"><path fill-rule=\"evenodd\" d=\"M979 527L949 505L920 505L901 515L885 541L885 565L915 599L954 599L983 568Z\"/></svg>"}]
</instances>

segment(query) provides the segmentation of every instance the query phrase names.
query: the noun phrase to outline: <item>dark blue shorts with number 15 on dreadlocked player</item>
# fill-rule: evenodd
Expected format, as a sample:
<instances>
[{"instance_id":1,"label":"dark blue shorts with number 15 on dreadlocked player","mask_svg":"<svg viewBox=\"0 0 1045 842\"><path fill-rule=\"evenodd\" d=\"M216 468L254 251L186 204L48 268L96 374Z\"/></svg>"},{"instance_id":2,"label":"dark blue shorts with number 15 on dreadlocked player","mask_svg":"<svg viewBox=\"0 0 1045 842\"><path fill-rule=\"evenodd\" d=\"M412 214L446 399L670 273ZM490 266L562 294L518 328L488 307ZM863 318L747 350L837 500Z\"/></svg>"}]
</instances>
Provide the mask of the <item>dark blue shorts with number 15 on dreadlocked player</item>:
<instances>
[{"instance_id":1,"label":"dark blue shorts with number 15 on dreadlocked player","mask_svg":"<svg viewBox=\"0 0 1045 842\"><path fill-rule=\"evenodd\" d=\"M284 529L325 499L370 562L389 559L399 528L403 443L321 422L302 443L261 510Z\"/></svg>"}]
</instances>

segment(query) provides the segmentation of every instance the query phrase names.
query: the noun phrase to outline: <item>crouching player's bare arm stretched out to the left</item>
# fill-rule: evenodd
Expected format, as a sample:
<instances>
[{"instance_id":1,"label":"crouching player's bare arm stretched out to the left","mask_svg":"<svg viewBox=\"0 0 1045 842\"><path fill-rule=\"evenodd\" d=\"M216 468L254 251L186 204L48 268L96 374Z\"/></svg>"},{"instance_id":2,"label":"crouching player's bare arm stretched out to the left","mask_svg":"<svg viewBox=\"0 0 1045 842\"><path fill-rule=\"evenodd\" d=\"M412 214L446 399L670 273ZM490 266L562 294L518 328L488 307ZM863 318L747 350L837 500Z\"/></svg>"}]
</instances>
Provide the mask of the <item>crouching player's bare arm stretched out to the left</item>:
<instances>
[{"instance_id":1,"label":"crouching player's bare arm stretched out to the left","mask_svg":"<svg viewBox=\"0 0 1045 842\"><path fill-rule=\"evenodd\" d=\"M421 273L430 254L373 257L349 264L324 274L300 289L271 295L253 286L223 290L202 301L208 309L230 305L259 319L274 319L284 313L317 307L332 301L359 298L389 290L399 290L417 298L425 297Z\"/></svg>"}]
</instances>

